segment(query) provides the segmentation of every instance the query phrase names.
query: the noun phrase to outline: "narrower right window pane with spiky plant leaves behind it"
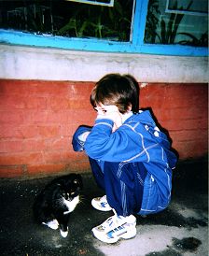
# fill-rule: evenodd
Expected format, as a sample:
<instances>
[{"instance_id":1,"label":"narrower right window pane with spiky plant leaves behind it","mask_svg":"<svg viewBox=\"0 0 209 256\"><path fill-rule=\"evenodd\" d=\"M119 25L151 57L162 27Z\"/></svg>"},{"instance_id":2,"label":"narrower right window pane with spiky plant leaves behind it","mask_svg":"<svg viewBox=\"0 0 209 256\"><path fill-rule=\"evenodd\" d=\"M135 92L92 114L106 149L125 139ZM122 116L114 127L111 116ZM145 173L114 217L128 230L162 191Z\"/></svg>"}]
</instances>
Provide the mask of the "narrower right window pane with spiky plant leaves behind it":
<instances>
[{"instance_id":1,"label":"narrower right window pane with spiky plant leaves behind it","mask_svg":"<svg viewBox=\"0 0 209 256\"><path fill-rule=\"evenodd\" d=\"M207 0L149 0L144 42L208 46Z\"/></svg>"}]
</instances>

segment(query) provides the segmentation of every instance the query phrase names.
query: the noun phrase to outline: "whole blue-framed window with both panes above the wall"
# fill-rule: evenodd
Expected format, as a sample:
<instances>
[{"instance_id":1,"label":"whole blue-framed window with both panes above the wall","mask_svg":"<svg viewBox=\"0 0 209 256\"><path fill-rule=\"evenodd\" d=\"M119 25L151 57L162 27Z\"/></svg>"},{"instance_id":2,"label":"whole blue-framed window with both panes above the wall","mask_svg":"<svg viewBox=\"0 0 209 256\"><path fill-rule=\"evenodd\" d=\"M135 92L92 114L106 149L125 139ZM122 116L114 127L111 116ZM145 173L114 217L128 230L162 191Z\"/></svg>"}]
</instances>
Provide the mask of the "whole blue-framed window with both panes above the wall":
<instances>
[{"instance_id":1,"label":"whole blue-framed window with both panes above the wall","mask_svg":"<svg viewBox=\"0 0 209 256\"><path fill-rule=\"evenodd\" d=\"M104 6L97 5L102 2ZM207 56L207 4L208 0L0 1L0 40L71 50Z\"/></svg>"}]
</instances>

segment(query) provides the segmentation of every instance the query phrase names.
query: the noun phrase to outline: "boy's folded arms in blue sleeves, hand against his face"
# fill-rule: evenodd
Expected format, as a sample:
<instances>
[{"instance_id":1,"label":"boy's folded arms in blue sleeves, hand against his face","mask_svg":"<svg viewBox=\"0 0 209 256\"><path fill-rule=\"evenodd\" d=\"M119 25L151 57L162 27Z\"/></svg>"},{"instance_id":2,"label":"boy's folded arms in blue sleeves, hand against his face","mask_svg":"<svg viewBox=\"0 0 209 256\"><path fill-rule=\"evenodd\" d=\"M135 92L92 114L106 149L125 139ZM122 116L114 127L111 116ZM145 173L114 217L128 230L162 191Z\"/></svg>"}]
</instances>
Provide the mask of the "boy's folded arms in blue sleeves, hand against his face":
<instances>
[{"instance_id":1,"label":"boy's folded arms in blue sleeves, hand against his face","mask_svg":"<svg viewBox=\"0 0 209 256\"><path fill-rule=\"evenodd\" d=\"M98 115L91 130L78 127L73 137L74 150L85 150L93 159L110 162L127 160L135 154L136 147L139 149L140 146L130 140L126 129L118 129L122 124L118 107L108 107L104 112L96 109Z\"/></svg>"}]
</instances>

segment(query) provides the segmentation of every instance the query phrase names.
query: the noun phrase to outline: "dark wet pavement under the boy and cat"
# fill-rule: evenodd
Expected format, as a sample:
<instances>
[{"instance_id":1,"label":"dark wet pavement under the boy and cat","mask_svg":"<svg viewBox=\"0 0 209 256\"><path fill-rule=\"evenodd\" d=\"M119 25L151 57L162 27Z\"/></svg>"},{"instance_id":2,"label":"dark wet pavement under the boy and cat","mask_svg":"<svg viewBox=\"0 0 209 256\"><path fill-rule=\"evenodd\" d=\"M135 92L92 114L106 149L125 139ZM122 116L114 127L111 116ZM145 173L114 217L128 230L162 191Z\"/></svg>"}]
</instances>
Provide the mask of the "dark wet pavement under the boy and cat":
<instances>
[{"instance_id":1,"label":"dark wet pavement under the boy and cat","mask_svg":"<svg viewBox=\"0 0 209 256\"><path fill-rule=\"evenodd\" d=\"M91 235L91 228L112 212L91 207L103 195L91 174L83 174L82 202L71 214L69 235L37 225L32 206L35 195L54 177L0 179L0 255L21 256L188 256L208 255L207 164L178 164L174 171L171 205L146 218L137 217L137 235L107 245Z\"/></svg>"}]
</instances>

